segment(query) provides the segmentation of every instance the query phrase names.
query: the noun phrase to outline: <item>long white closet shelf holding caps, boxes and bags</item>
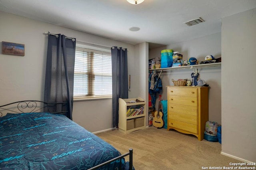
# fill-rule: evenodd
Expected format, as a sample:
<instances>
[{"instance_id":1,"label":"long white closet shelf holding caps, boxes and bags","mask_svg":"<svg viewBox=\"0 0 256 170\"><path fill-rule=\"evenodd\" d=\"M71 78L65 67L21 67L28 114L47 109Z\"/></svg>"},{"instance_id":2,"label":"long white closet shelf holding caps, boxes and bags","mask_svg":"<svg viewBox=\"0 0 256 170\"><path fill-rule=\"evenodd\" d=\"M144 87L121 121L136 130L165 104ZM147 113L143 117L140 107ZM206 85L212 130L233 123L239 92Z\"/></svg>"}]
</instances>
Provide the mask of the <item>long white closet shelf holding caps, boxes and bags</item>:
<instances>
[{"instance_id":1,"label":"long white closet shelf holding caps, boxes and bags","mask_svg":"<svg viewBox=\"0 0 256 170\"><path fill-rule=\"evenodd\" d=\"M182 70L182 69L201 69L210 67L221 67L221 63L209 63L209 64L198 64L198 65L186 65L181 67L168 67L160 69L149 69L149 71L169 71L169 70Z\"/></svg>"}]
</instances>

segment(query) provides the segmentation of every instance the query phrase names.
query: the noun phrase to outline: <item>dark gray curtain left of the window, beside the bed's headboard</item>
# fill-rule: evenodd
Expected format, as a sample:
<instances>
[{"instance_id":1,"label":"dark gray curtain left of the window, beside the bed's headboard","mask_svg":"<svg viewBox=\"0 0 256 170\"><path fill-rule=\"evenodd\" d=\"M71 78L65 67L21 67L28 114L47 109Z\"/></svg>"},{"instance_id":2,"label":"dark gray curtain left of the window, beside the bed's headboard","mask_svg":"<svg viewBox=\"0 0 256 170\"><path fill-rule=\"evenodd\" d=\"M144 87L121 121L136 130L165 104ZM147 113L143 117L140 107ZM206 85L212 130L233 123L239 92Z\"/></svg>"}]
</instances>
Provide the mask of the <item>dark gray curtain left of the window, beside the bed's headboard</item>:
<instances>
[{"instance_id":1,"label":"dark gray curtain left of the window, beside the bed's headboard","mask_svg":"<svg viewBox=\"0 0 256 170\"><path fill-rule=\"evenodd\" d=\"M48 36L46 75L44 85L45 102L68 102L44 111L67 111L63 113L72 120L74 63L76 39L61 34Z\"/></svg>"}]
</instances>

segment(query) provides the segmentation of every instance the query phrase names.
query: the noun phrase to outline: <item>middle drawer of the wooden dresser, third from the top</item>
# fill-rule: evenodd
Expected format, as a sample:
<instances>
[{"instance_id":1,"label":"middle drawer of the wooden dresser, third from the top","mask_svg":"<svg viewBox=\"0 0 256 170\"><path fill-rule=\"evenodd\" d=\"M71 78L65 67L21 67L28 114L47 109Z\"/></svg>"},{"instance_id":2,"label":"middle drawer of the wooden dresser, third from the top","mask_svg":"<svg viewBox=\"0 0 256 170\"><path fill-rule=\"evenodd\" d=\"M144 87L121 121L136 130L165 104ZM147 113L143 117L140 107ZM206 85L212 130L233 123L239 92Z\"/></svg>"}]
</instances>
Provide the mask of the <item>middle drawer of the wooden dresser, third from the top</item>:
<instances>
[{"instance_id":1,"label":"middle drawer of the wooden dresser, third from the top","mask_svg":"<svg viewBox=\"0 0 256 170\"><path fill-rule=\"evenodd\" d=\"M197 116L197 107L196 106L184 106L184 105L177 105L174 103L168 103L168 113L170 112L179 112L185 113L188 115Z\"/></svg>"}]
</instances>

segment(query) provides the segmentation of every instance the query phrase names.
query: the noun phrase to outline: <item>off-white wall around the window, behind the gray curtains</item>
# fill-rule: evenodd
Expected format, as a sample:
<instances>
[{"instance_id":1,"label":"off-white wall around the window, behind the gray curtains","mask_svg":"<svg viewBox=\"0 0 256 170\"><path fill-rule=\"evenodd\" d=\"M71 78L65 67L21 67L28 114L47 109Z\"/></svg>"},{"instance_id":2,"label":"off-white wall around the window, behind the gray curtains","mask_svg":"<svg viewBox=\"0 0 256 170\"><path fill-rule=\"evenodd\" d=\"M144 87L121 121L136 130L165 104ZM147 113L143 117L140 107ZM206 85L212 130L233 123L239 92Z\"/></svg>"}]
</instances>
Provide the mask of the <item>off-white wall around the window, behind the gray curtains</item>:
<instances>
[{"instance_id":1,"label":"off-white wall around the window, behind the gray curtains","mask_svg":"<svg viewBox=\"0 0 256 170\"><path fill-rule=\"evenodd\" d=\"M24 57L0 54L0 105L19 100L43 100L48 41L44 32L48 31L85 42L127 48L128 74L131 74L133 87L139 86L138 69L134 70L131 64L138 57L134 55L134 45L5 12L0 12L0 23L0 42L25 44ZM129 93L131 97L137 95L138 90ZM91 132L112 128L112 99L75 101L73 120Z\"/></svg>"}]
</instances>

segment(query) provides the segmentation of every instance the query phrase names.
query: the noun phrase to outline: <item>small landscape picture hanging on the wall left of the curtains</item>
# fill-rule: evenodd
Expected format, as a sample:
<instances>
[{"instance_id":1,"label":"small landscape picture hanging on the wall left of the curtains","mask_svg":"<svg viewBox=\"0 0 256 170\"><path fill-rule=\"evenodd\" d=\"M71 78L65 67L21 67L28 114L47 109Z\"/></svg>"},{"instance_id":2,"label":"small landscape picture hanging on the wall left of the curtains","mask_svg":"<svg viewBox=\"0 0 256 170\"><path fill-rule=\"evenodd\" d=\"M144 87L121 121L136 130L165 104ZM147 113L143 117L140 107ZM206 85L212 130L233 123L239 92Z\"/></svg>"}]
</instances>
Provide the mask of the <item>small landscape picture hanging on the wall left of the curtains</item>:
<instances>
[{"instance_id":1,"label":"small landscape picture hanging on the wall left of the curtains","mask_svg":"<svg viewBox=\"0 0 256 170\"><path fill-rule=\"evenodd\" d=\"M20 43L2 42L2 54L25 55L25 45Z\"/></svg>"}]
</instances>

